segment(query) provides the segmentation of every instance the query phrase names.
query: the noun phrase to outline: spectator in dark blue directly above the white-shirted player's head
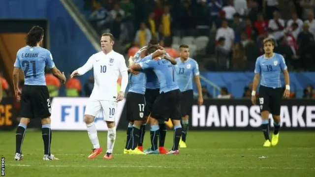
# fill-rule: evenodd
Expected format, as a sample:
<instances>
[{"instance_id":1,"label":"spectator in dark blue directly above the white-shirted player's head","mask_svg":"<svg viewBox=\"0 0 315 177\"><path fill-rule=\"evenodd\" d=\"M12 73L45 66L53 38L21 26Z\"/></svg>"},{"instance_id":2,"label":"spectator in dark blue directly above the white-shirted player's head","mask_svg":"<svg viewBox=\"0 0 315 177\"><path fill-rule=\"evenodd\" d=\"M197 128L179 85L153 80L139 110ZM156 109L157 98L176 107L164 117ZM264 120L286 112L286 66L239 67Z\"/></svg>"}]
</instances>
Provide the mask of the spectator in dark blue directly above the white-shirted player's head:
<instances>
[{"instance_id":1,"label":"spectator in dark blue directly above the white-shirted player's head","mask_svg":"<svg viewBox=\"0 0 315 177\"><path fill-rule=\"evenodd\" d=\"M103 33L110 28L109 22L112 20L110 13L101 6L101 4L95 1L95 9L90 15L92 25L98 33ZM95 25L96 22L96 25Z\"/></svg>"}]
</instances>

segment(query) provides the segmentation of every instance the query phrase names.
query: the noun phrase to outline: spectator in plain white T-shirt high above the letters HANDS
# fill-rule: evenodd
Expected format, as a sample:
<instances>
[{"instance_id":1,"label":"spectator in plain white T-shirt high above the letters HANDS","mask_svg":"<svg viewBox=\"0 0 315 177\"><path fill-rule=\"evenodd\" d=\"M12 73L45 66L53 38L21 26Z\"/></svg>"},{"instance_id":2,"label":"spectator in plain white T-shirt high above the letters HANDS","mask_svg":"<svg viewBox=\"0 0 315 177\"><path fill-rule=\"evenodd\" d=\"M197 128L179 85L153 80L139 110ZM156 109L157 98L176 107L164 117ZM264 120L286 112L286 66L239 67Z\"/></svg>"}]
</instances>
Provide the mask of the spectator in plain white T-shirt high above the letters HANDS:
<instances>
[{"instance_id":1,"label":"spectator in plain white T-shirt high above the letters HANDS","mask_svg":"<svg viewBox=\"0 0 315 177\"><path fill-rule=\"evenodd\" d=\"M222 27L217 30L216 40L219 40L220 37L225 39L223 48L226 51L231 51L235 38L234 30L228 27L226 20L222 20Z\"/></svg>"}]
</instances>

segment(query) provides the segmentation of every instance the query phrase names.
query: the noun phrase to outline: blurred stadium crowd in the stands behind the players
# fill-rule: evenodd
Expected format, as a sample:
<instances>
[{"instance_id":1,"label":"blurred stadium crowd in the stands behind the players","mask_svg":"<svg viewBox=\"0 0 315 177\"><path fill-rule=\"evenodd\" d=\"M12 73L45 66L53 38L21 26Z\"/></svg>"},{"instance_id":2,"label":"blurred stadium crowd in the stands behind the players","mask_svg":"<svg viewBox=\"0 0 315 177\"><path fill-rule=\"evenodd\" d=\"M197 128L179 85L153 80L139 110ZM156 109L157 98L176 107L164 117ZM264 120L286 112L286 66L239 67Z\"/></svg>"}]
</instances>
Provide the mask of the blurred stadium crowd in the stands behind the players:
<instances>
[{"instance_id":1,"label":"blurred stadium crowd in the stands behind the players","mask_svg":"<svg viewBox=\"0 0 315 177\"><path fill-rule=\"evenodd\" d=\"M189 45L190 57L197 60L200 70L253 71L263 53L262 40L271 37L289 71L315 70L315 0L84 1L95 30L113 33L125 46L126 57L155 38L174 58L179 56L180 44ZM7 81L1 75L0 79L3 95L12 95ZM89 96L93 81L81 84L69 79L66 96ZM47 72L46 82L51 96L59 95L60 81ZM203 90L205 98L212 97ZM244 97L250 97L250 90L251 83ZM311 85L303 93L304 98L315 98ZM232 97L221 88L219 98Z\"/></svg>"}]
</instances>

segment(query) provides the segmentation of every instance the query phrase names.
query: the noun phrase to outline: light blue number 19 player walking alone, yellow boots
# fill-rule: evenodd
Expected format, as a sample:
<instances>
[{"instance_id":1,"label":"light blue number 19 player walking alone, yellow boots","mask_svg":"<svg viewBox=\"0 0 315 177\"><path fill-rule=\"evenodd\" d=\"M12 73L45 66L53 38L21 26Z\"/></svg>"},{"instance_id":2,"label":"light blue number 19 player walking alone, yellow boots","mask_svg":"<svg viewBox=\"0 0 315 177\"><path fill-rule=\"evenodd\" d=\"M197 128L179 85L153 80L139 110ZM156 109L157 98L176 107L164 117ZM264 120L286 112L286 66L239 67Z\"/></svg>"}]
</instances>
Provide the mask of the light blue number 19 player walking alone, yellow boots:
<instances>
[{"instance_id":1,"label":"light blue number 19 player walking alone, yellow boots","mask_svg":"<svg viewBox=\"0 0 315 177\"><path fill-rule=\"evenodd\" d=\"M276 146L279 141L280 110L282 96L290 95L290 78L284 57L274 53L275 42L271 38L263 41L265 54L258 57L255 65L255 76L252 85L252 104L256 104L256 89L260 81L259 105L262 118L261 128L264 133L264 147ZM280 75L284 73L285 90L283 94ZM261 77L261 79L260 79ZM269 138L269 113L274 119L274 133Z\"/></svg>"}]
</instances>

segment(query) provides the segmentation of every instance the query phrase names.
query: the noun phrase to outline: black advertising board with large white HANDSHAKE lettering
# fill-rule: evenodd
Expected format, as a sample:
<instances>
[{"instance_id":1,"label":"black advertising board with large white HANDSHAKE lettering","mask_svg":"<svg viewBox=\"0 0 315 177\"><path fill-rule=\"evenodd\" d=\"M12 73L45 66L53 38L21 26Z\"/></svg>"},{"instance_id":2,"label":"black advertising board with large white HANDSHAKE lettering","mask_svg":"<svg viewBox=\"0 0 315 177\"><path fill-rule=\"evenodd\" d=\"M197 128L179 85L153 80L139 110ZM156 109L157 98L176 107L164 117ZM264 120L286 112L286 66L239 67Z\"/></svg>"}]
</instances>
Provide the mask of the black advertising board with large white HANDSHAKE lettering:
<instances>
[{"instance_id":1,"label":"black advertising board with large white HANDSHAKE lettering","mask_svg":"<svg viewBox=\"0 0 315 177\"><path fill-rule=\"evenodd\" d=\"M190 130L259 130L261 125L259 106L249 99L204 100L191 114ZM280 117L282 130L315 130L315 100L285 99Z\"/></svg>"}]
</instances>

